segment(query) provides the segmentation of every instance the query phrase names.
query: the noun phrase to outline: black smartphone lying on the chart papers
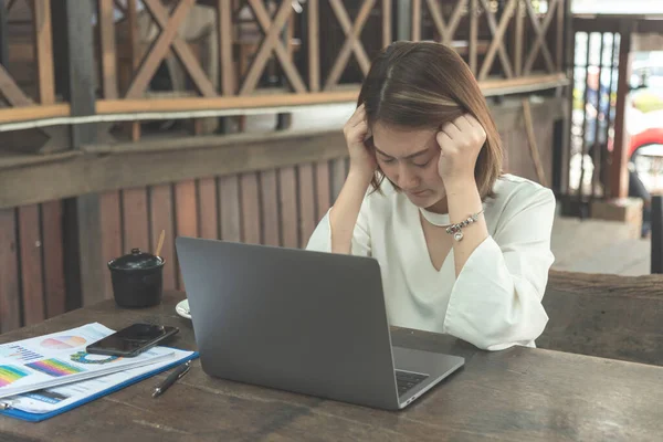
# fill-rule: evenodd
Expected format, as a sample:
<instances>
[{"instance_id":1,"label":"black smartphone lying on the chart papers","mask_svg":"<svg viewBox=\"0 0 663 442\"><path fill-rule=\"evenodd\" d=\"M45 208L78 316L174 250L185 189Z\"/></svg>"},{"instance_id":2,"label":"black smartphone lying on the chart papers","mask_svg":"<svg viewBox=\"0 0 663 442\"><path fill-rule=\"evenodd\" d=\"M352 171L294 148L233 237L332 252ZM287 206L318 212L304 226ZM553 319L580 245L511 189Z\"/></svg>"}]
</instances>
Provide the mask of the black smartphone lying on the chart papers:
<instances>
[{"instance_id":1,"label":"black smartphone lying on the chart papers","mask_svg":"<svg viewBox=\"0 0 663 442\"><path fill-rule=\"evenodd\" d=\"M133 324L87 346L91 355L131 358L179 332L177 327Z\"/></svg>"}]
</instances>

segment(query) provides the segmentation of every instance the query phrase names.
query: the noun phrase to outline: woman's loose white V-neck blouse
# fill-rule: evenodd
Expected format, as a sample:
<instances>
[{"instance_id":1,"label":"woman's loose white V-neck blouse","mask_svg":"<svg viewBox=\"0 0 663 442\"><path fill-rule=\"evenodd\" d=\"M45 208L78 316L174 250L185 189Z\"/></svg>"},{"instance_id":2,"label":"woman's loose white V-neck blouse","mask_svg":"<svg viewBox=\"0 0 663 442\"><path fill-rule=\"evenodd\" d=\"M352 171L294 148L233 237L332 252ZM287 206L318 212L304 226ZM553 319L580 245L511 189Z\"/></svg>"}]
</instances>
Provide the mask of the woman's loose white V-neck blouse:
<instances>
[{"instance_id":1,"label":"woman's loose white V-neck blouse","mask_svg":"<svg viewBox=\"0 0 663 442\"><path fill-rule=\"evenodd\" d=\"M367 193L351 253L379 262L391 325L449 334L487 350L535 346L548 322L541 298L555 261L555 197L550 189L512 175L497 179L494 191L484 202L488 238L457 278L453 250L440 271L433 267L419 208L387 179L383 194ZM449 223L449 214L427 214ZM329 212L306 249L330 252Z\"/></svg>"}]
</instances>

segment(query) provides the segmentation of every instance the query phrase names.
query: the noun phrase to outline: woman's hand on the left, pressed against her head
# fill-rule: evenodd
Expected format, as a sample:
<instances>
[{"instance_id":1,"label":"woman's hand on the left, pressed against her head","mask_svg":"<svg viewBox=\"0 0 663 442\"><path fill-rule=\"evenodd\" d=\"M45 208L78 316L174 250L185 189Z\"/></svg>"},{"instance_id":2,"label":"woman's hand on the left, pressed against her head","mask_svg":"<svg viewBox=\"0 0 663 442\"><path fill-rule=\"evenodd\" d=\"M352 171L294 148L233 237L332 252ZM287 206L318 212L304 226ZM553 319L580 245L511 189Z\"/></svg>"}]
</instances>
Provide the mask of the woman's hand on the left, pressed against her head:
<instances>
[{"instance_id":1,"label":"woman's hand on the left, pressed against her head","mask_svg":"<svg viewBox=\"0 0 663 442\"><path fill-rule=\"evenodd\" d=\"M357 171L366 177L371 177L378 168L376 154L366 145L371 137L366 123L366 109L364 104L357 107L350 119L343 128L343 133L350 154L350 171Z\"/></svg>"}]
</instances>

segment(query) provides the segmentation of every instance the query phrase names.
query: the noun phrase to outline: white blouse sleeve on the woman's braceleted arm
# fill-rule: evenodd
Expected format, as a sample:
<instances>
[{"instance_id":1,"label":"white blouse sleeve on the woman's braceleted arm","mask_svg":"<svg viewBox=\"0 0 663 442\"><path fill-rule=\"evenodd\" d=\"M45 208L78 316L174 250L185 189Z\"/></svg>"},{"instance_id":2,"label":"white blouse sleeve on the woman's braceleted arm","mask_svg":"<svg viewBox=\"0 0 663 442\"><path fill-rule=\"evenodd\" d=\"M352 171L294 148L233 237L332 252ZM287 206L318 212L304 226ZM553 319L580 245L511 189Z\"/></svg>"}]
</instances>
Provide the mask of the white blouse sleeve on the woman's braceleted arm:
<instances>
[{"instance_id":1,"label":"white blouse sleeve on the woman's braceleted arm","mask_svg":"<svg viewBox=\"0 0 663 442\"><path fill-rule=\"evenodd\" d=\"M445 333L486 350L534 346L548 322L541 299L555 261L555 197L539 188L517 206L467 259L444 318Z\"/></svg>"}]
</instances>

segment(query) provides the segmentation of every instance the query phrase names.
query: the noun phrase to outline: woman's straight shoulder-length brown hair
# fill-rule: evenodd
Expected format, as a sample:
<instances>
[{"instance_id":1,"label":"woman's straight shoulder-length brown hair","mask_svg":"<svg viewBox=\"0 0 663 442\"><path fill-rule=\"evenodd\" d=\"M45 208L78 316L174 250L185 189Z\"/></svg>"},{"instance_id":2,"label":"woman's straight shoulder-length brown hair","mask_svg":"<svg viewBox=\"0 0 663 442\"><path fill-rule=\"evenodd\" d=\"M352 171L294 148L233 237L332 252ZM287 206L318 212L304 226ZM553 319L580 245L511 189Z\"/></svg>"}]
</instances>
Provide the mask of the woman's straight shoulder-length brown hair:
<instances>
[{"instance_id":1,"label":"woman's straight shoulder-length brown hair","mask_svg":"<svg viewBox=\"0 0 663 442\"><path fill-rule=\"evenodd\" d=\"M486 131L474 177L482 199L492 194L502 173L502 143L474 75L455 51L433 42L391 43L372 61L357 106L362 103L368 127L380 122L439 130L465 113L473 115ZM372 146L372 139L368 145ZM383 179L385 173L378 169L371 181L373 191L379 190Z\"/></svg>"}]
</instances>

